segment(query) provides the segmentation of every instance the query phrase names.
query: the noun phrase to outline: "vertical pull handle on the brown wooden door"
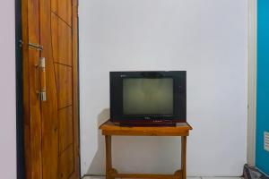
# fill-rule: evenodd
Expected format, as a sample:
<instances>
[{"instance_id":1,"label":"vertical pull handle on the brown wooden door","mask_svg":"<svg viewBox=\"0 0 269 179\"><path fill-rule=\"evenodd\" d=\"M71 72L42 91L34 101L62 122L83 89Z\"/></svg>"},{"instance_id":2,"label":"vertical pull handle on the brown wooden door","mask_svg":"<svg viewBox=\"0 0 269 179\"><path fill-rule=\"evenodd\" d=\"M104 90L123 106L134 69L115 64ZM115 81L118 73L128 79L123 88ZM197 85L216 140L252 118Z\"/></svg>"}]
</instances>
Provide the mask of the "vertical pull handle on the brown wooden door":
<instances>
[{"instance_id":1,"label":"vertical pull handle on the brown wooden door","mask_svg":"<svg viewBox=\"0 0 269 179\"><path fill-rule=\"evenodd\" d=\"M46 81L46 58L40 57L38 67L40 69L40 90L37 91L41 101L47 100L47 81Z\"/></svg>"}]
</instances>

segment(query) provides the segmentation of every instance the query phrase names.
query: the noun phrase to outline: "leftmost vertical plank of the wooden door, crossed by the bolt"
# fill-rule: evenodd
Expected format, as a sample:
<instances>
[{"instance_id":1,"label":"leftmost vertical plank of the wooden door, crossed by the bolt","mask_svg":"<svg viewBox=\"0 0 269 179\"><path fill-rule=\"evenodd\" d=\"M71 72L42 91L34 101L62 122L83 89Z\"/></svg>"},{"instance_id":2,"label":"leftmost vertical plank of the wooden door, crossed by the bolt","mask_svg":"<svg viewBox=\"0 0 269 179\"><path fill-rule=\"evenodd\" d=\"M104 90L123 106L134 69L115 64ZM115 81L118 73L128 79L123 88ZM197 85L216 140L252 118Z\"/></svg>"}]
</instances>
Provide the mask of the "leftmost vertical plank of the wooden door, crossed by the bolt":
<instances>
[{"instance_id":1,"label":"leftmost vertical plank of the wooden door, crossed by the bolt","mask_svg":"<svg viewBox=\"0 0 269 179\"><path fill-rule=\"evenodd\" d=\"M38 73L35 65L39 60L39 51L30 49L27 42L39 44L39 2L34 0L24 1L22 5L22 40L23 45L23 81L24 95L23 101L27 115L25 120L25 155L31 160L26 161L26 166L30 170L26 172L27 178L33 179L42 175L42 154L41 154L41 115L39 113L40 102L36 94L39 88ZM28 107L26 107L28 105Z\"/></svg>"}]
</instances>

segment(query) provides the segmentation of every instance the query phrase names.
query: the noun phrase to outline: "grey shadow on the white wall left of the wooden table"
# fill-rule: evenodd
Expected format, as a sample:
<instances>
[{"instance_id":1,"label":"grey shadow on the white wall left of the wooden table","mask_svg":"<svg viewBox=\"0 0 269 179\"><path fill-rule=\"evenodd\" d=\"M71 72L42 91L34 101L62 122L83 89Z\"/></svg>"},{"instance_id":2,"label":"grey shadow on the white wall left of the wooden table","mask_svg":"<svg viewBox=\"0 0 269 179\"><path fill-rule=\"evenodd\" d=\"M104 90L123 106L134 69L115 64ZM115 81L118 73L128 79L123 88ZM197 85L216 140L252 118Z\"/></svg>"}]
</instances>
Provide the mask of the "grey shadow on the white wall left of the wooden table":
<instances>
[{"instance_id":1,"label":"grey shadow on the white wall left of the wooden table","mask_svg":"<svg viewBox=\"0 0 269 179\"><path fill-rule=\"evenodd\" d=\"M100 124L105 123L109 119L110 109L106 108L98 115L98 149L92 159L91 166L88 169L87 174L104 175L105 174L105 138L102 136L99 130ZM100 167L101 166L101 167ZM100 171L100 174L96 174L96 171Z\"/></svg>"}]
</instances>

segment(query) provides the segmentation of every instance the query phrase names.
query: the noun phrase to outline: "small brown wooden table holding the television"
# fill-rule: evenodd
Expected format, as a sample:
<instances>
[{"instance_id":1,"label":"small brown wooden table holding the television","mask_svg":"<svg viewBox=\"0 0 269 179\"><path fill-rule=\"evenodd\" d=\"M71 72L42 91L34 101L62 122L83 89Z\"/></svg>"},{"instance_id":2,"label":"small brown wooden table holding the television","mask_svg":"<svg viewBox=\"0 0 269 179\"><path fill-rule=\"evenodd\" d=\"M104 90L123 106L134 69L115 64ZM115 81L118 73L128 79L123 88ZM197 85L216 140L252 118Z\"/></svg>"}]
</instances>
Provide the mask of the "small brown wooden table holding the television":
<instances>
[{"instance_id":1,"label":"small brown wooden table holding the television","mask_svg":"<svg viewBox=\"0 0 269 179\"><path fill-rule=\"evenodd\" d=\"M113 124L107 121L100 125L100 130L106 138L106 178L170 178L186 179L186 153L187 136L192 127L187 123L177 124L175 127L126 127ZM180 136L181 137L181 169L173 175L154 175L154 174L119 174L112 167L111 157L111 136Z\"/></svg>"}]
</instances>

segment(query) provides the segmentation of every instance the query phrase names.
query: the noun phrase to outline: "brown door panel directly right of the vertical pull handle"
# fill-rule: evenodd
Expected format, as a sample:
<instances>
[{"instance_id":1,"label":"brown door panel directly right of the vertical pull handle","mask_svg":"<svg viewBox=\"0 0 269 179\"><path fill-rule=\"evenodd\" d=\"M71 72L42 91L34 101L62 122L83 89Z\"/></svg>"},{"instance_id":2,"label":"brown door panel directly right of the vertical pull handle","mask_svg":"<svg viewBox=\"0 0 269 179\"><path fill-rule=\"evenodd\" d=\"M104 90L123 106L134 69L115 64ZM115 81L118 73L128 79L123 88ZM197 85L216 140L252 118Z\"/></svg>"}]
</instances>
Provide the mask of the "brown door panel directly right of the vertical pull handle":
<instances>
[{"instance_id":1,"label":"brown door panel directly right of the vertical pull handle","mask_svg":"<svg viewBox=\"0 0 269 179\"><path fill-rule=\"evenodd\" d=\"M58 107L69 107L73 102L73 72L70 66L55 64Z\"/></svg>"}]
</instances>

